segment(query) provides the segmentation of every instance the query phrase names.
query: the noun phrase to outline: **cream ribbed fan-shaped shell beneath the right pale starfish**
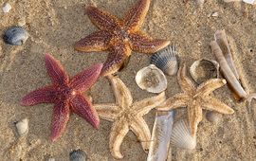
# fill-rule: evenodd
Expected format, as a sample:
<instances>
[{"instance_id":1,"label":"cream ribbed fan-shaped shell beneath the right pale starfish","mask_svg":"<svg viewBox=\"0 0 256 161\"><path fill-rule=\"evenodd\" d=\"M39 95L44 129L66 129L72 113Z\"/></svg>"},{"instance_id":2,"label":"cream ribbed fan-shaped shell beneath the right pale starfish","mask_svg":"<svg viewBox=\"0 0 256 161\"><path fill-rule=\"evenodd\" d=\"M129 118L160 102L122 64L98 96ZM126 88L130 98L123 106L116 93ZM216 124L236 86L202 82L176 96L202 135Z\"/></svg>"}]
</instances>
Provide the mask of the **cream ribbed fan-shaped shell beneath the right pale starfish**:
<instances>
[{"instance_id":1,"label":"cream ribbed fan-shaped shell beneath the right pale starfish","mask_svg":"<svg viewBox=\"0 0 256 161\"><path fill-rule=\"evenodd\" d=\"M196 136L192 136L189 124L184 119L174 122L171 144L175 147L192 150L196 146Z\"/></svg>"}]
</instances>

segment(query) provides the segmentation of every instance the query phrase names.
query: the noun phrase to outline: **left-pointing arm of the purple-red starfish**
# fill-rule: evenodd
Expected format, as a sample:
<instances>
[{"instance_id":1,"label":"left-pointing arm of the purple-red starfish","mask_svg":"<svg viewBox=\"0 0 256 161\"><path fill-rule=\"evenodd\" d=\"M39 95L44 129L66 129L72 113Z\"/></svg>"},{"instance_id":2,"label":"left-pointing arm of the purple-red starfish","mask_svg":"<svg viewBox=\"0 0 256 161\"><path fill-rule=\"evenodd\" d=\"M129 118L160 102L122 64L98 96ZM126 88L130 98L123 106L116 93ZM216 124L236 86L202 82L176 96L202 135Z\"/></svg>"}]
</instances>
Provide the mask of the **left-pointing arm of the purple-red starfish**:
<instances>
[{"instance_id":1,"label":"left-pointing arm of the purple-red starfish","mask_svg":"<svg viewBox=\"0 0 256 161\"><path fill-rule=\"evenodd\" d=\"M39 103L53 103L56 101L56 89L53 86L47 86L30 92L22 98L21 105L32 106Z\"/></svg>"}]
</instances>

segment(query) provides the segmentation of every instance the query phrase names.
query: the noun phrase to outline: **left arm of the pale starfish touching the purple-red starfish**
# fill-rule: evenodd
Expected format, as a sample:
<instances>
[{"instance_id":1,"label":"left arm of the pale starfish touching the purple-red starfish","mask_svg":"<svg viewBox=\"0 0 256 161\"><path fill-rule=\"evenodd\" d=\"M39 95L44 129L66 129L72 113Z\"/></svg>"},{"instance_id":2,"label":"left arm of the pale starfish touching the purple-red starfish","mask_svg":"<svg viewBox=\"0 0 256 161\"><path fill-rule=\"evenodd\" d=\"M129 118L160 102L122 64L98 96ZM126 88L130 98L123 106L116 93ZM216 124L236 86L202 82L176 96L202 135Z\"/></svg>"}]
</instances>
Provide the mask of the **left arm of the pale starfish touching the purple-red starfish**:
<instances>
[{"instance_id":1,"label":"left arm of the pale starfish touching the purple-red starfish","mask_svg":"<svg viewBox=\"0 0 256 161\"><path fill-rule=\"evenodd\" d=\"M98 115L106 120L114 121L119 114L119 107L116 104L94 104Z\"/></svg>"}]
</instances>

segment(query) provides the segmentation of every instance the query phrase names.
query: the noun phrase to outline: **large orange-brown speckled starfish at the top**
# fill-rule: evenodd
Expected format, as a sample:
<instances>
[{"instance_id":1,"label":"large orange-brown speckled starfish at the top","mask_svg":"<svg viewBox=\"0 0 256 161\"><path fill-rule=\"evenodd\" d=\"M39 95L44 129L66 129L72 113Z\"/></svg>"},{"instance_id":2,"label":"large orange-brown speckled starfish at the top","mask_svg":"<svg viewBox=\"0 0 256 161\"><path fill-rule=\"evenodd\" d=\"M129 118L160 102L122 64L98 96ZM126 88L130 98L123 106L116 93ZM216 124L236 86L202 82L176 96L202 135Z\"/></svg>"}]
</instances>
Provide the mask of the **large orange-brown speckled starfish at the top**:
<instances>
[{"instance_id":1,"label":"large orange-brown speckled starfish at the top","mask_svg":"<svg viewBox=\"0 0 256 161\"><path fill-rule=\"evenodd\" d=\"M153 39L139 28L146 17L150 0L139 0L122 20L111 13L87 6L86 14L101 30L96 31L75 44L79 51L110 51L103 64L101 75L106 76L121 70L129 62L132 50L141 53L155 53L169 45L166 40Z\"/></svg>"}]
</instances>

